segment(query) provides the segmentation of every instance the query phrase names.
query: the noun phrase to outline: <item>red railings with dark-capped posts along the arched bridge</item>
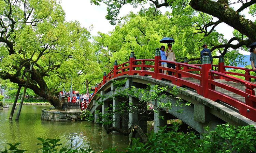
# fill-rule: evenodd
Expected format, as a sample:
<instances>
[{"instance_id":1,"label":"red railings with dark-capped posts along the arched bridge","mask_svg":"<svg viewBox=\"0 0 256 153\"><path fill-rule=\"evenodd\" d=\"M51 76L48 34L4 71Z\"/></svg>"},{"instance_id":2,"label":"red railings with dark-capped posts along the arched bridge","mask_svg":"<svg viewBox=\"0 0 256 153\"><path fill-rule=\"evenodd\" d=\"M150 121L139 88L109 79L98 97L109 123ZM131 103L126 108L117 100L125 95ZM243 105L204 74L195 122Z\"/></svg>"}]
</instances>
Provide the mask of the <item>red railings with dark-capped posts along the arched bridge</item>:
<instances>
[{"instance_id":1,"label":"red railings with dark-capped posts along the arched bridge","mask_svg":"<svg viewBox=\"0 0 256 153\"><path fill-rule=\"evenodd\" d=\"M141 64L135 65L135 61L137 61L138 63L141 62ZM162 67L161 62L175 64L175 69ZM161 60L160 54L158 54L157 51L155 59L134 60L134 54L131 54L130 61L127 61L120 65L117 65L117 61L115 61L114 69L112 69L108 74L104 72L103 80L100 82L98 87L95 88L95 92L91 99L93 99L93 97L96 95L98 89L100 89L102 85L104 85L109 80L122 75L139 74L140 76L151 76L152 78L158 80L170 80L174 85L187 86L195 89L199 95L202 95L203 97L211 99L213 101L221 100L239 109L241 115L253 121L256 121L256 96L253 90L254 88L256 88L256 85L249 82L251 81L251 78L256 79L256 76L250 74L250 71L253 70L240 67L225 66L222 56L219 57L218 65L213 65L213 67L215 68L215 70L211 70L211 64L191 65L187 63L186 58L184 60L184 63ZM154 70L148 70L152 68L154 68ZM244 70L245 74L229 72L226 71L225 68ZM164 70L174 72L175 74L164 74L162 73ZM233 77L228 74L242 76L245 78L245 80ZM182 77L195 78L200 81L200 84L182 79ZM239 82L241 84L244 84L246 88L245 91L243 91L236 87L214 81L214 79L225 79L228 81ZM244 97L245 102L215 90L216 86L229 90L235 94L240 95L241 97Z\"/></svg>"}]
</instances>

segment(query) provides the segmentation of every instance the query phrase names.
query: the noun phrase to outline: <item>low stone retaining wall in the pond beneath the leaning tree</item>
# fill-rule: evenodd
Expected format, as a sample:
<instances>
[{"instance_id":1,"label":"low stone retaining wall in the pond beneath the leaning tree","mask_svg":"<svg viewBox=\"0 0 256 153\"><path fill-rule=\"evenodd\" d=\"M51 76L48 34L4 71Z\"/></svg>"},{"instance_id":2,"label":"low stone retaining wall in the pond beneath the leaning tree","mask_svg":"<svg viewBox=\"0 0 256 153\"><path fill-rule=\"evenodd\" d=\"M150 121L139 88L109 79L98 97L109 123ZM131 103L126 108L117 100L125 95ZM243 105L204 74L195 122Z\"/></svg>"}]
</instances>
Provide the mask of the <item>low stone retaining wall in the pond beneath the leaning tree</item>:
<instances>
[{"instance_id":1,"label":"low stone retaining wall in the pond beneath the leaning tree","mask_svg":"<svg viewBox=\"0 0 256 153\"><path fill-rule=\"evenodd\" d=\"M80 114L82 111L53 111L42 109L41 119L48 121L75 121L81 120Z\"/></svg>"}]
</instances>

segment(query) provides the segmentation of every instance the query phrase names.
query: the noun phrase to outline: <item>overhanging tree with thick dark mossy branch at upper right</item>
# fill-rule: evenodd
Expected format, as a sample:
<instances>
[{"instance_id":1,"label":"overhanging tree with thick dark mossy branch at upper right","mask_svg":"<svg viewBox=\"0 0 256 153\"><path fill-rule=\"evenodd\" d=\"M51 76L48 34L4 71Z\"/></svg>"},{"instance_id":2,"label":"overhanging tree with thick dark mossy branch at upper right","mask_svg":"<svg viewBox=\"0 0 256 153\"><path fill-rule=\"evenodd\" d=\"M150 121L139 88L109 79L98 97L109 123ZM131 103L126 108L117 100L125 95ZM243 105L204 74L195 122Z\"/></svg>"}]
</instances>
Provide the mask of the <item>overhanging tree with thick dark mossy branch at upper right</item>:
<instances>
[{"instance_id":1,"label":"overhanging tree with thick dark mossy branch at upper right","mask_svg":"<svg viewBox=\"0 0 256 153\"><path fill-rule=\"evenodd\" d=\"M168 16L175 21L177 31L172 31L175 33L168 34L167 31L169 29L166 28L162 31L163 35L160 36L166 37L173 36L173 34L183 33L184 37L188 38L185 41L183 39L183 43L181 44L183 51L194 51L194 54L198 55L197 52L201 49L200 46L207 43L210 46L210 50L213 52L213 54L219 52L224 56L224 58L228 59L226 63L230 65L236 65L236 63L242 61L243 55L238 53L238 49L248 51L248 49L244 46L249 46L253 41L256 41L256 36L254 34L256 29L255 22L247 20L243 15L240 15L240 12L248 7L250 8L248 13L255 15L255 0L241 2L240 4L242 4L242 6L238 10L234 10L233 7L230 7L229 5L231 3L229 3L227 0L91 0L91 3L96 5L100 5L100 2L103 2L108 6L108 14L106 15L106 19L110 20L111 24L116 24L117 22L120 23L120 19L118 19L117 16L120 12L120 8L126 4L137 7L138 5L150 3L149 8L143 7L140 11L141 15L144 14L148 17L147 19L156 19L159 15L159 10L157 9L160 9L161 7L168 7L170 8L170 11L172 11L172 13L168 14ZM215 19L217 20L214 21ZM236 29L239 35L234 34L234 37L229 40L225 40L223 36L217 34L214 29L222 22ZM162 26L166 25L165 22L162 23ZM189 28L188 30L187 27L194 27L194 29ZM202 38L201 36L198 37L196 34L199 33L205 38ZM237 41L238 43L236 43ZM216 57L217 56L215 56L215 58ZM237 61L233 62L234 59ZM194 60L198 60L198 56L189 58L189 61Z\"/></svg>"}]
</instances>

